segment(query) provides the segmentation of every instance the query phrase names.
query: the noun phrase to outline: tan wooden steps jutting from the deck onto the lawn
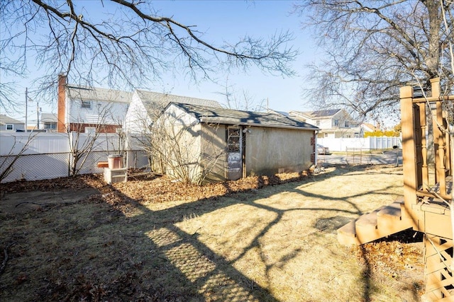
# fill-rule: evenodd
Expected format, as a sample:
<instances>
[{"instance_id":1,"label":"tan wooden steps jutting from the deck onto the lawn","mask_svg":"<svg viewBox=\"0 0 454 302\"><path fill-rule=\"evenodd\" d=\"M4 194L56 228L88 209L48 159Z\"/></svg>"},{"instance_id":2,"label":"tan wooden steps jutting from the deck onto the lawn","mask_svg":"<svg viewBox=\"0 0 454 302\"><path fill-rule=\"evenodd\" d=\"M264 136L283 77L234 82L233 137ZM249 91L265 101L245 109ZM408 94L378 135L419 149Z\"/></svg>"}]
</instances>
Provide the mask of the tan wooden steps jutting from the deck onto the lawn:
<instances>
[{"instance_id":1,"label":"tan wooden steps jutting from the deck onto the lawn","mask_svg":"<svg viewBox=\"0 0 454 302\"><path fill-rule=\"evenodd\" d=\"M338 242L342 245L361 245L404 231L414 226L408 217L404 203L394 202L339 228Z\"/></svg>"}]
</instances>

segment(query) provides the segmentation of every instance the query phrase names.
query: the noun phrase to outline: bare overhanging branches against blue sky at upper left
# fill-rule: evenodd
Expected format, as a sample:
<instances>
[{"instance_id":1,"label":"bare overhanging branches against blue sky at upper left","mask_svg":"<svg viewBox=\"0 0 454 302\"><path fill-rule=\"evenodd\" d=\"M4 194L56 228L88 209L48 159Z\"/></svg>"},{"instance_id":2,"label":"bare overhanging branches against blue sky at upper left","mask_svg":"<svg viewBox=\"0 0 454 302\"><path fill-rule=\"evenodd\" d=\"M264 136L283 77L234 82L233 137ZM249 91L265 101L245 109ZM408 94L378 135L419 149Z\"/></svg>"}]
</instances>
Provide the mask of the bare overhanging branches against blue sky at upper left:
<instances>
[{"instance_id":1,"label":"bare overhanging branches against blue sky at upper left","mask_svg":"<svg viewBox=\"0 0 454 302\"><path fill-rule=\"evenodd\" d=\"M219 68L250 66L290 75L289 62L297 55L288 32L216 45L204 40L196 26L160 16L149 0L3 0L0 23L2 78L26 75L33 59L46 70L37 82L41 93L55 90L58 74L83 86L103 81L111 87L137 87L160 79L179 63L199 79ZM13 84L2 81L1 86L0 103L5 105L13 94L3 86Z\"/></svg>"}]
</instances>

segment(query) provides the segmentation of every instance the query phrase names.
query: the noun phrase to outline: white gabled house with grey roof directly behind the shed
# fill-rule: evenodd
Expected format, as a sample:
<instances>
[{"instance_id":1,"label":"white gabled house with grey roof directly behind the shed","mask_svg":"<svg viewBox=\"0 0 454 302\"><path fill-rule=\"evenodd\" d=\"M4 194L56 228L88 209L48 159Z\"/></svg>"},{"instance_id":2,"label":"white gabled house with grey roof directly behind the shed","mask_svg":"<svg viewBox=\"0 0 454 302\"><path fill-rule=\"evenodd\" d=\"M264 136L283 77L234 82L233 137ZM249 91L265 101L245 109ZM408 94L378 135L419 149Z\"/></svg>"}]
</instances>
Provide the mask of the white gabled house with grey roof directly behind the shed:
<instances>
[{"instance_id":1,"label":"white gabled house with grey roof directly behind the shed","mask_svg":"<svg viewBox=\"0 0 454 302\"><path fill-rule=\"evenodd\" d=\"M162 114L169 103L184 103L221 107L216 100L204 100L201 98L189 98L167 93L155 93L151 91L134 91L131 104L126 112L124 129L128 133L147 132L148 127Z\"/></svg>"}]
</instances>

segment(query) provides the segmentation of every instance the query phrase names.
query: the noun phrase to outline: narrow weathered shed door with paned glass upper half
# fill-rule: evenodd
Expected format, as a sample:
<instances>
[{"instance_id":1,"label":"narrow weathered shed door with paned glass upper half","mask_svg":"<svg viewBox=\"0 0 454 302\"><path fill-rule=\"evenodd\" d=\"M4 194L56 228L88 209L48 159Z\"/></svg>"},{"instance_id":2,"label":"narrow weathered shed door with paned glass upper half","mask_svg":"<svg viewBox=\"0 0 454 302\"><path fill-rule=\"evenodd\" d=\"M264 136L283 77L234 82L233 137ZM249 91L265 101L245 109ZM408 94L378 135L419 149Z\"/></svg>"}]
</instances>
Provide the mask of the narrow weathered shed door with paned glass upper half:
<instances>
[{"instance_id":1,"label":"narrow weathered shed door with paned glass upper half","mask_svg":"<svg viewBox=\"0 0 454 302\"><path fill-rule=\"evenodd\" d=\"M243 175L241 168L242 135L240 127L227 128L227 179L238 180Z\"/></svg>"}]
</instances>

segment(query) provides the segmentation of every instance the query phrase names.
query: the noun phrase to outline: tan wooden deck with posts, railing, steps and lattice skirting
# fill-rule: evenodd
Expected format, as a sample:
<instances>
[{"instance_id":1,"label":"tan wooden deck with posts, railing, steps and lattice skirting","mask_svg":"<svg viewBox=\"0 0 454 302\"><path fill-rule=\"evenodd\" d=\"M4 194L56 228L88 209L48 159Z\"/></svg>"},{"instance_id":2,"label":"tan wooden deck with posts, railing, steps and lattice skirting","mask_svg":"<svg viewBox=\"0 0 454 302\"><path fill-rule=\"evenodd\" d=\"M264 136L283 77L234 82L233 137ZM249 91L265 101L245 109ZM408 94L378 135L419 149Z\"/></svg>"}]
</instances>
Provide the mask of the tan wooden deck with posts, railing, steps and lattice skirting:
<instances>
[{"instance_id":1,"label":"tan wooden deck with posts, railing, steps and lattice skirting","mask_svg":"<svg viewBox=\"0 0 454 302\"><path fill-rule=\"evenodd\" d=\"M338 241L361 245L408 228L425 233L426 293L422 301L454 301L453 225L448 205L452 201L453 154L443 110L443 103L453 102L454 96L440 95L439 79L431 80L425 95L414 93L412 86L400 91L403 200L339 228Z\"/></svg>"}]
</instances>

